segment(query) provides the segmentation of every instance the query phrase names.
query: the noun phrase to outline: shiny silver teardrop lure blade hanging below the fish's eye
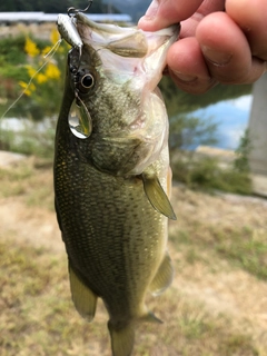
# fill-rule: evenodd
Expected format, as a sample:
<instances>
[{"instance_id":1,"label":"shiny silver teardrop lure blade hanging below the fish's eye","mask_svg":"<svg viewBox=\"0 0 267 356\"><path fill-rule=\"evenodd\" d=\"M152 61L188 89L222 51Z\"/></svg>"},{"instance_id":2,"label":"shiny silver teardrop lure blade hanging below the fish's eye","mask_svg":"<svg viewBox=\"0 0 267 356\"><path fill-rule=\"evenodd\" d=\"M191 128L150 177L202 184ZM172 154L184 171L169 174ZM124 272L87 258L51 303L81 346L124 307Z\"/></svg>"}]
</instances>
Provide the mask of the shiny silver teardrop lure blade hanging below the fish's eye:
<instances>
[{"instance_id":1,"label":"shiny silver teardrop lure blade hanging below the fish's eye","mask_svg":"<svg viewBox=\"0 0 267 356\"><path fill-rule=\"evenodd\" d=\"M69 110L69 128L71 132L81 139L86 139L91 135L92 120L87 107L82 100L73 100Z\"/></svg>"}]
</instances>

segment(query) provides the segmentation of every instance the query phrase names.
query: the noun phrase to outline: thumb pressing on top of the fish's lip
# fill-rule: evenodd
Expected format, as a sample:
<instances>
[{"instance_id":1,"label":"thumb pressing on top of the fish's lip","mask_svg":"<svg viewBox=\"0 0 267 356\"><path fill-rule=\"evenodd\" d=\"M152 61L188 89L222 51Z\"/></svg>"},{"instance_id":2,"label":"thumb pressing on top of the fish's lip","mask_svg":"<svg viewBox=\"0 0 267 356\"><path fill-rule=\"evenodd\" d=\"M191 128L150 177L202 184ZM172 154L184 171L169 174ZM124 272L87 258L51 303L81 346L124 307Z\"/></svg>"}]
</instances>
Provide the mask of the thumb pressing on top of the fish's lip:
<instances>
[{"instance_id":1,"label":"thumb pressing on top of the fish's lip","mask_svg":"<svg viewBox=\"0 0 267 356\"><path fill-rule=\"evenodd\" d=\"M202 0L154 0L138 27L145 31L156 31L189 18Z\"/></svg>"}]
</instances>

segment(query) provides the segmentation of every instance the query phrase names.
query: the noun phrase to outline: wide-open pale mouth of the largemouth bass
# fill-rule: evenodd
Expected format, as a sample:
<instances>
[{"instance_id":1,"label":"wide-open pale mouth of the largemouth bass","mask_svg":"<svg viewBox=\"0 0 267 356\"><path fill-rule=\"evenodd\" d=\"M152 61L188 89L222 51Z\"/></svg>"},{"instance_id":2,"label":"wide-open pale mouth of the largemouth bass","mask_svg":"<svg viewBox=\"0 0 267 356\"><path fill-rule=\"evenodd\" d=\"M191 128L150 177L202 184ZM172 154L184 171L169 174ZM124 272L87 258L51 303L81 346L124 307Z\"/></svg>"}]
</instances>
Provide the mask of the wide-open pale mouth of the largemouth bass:
<instances>
[{"instance_id":1,"label":"wide-open pale mouth of the largemouth bass","mask_svg":"<svg viewBox=\"0 0 267 356\"><path fill-rule=\"evenodd\" d=\"M77 29L83 44L101 51L103 70L111 79L121 83L136 77L139 85L146 82L149 89L155 89L166 67L166 52L177 40L180 27L174 24L156 32L145 32L137 28L95 23L78 13ZM140 76L145 78L141 80Z\"/></svg>"}]
</instances>

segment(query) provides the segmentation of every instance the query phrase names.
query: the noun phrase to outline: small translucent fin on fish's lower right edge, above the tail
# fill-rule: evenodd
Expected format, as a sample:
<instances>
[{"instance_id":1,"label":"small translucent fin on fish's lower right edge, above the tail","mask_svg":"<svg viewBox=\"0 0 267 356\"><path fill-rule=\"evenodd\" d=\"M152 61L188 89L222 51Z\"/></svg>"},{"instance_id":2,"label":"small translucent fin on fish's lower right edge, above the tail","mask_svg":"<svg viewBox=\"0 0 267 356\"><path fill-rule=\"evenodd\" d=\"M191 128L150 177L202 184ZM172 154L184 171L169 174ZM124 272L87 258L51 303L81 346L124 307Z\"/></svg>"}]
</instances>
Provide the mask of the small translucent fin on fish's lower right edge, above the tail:
<instances>
[{"instance_id":1,"label":"small translucent fin on fish's lower right edge, above the tail","mask_svg":"<svg viewBox=\"0 0 267 356\"><path fill-rule=\"evenodd\" d=\"M165 255L165 258L159 266L159 269L151 281L149 289L152 293L152 295L159 295L165 291L171 284L174 278L174 266L171 264L171 259L169 257L169 254L167 253Z\"/></svg>"}]
</instances>

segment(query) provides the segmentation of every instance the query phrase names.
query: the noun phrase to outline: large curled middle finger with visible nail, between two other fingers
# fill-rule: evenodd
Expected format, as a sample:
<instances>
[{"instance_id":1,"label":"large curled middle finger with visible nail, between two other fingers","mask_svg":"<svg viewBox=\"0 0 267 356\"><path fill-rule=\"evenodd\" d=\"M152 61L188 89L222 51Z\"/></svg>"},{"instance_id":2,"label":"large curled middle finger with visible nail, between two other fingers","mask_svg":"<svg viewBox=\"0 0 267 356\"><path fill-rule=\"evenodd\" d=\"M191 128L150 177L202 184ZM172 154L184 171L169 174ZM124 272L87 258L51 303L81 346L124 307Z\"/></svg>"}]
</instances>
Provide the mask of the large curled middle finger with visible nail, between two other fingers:
<instances>
[{"instance_id":1,"label":"large curled middle finger with visible nail, between two other fingers","mask_svg":"<svg viewBox=\"0 0 267 356\"><path fill-rule=\"evenodd\" d=\"M202 19L196 38L211 77L218 81L253 82L264 73L264 61L253 59L246 36L227 13L215 12Z\"/></svg>"}]
</instances>

